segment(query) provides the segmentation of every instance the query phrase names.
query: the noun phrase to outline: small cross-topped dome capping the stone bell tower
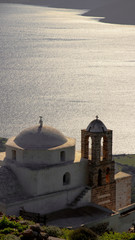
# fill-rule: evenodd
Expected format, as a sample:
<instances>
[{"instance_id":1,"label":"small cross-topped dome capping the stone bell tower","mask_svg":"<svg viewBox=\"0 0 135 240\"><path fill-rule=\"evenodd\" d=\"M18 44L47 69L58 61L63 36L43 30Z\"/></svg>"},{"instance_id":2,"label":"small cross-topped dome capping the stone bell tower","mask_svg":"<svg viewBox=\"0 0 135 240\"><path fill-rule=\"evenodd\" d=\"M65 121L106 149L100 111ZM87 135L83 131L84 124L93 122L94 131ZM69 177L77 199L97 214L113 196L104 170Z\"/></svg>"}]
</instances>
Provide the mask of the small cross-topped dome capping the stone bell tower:
<instances>
[{"instance_id":1,"label":"small cross-topped dome capping the stone bell tower","mask_svg":"<svg viewBox=\"0 0 135 240\"><path fill-rule=\"evenodd\" d=\"M93 132L93 133L99 132L99 133L101 133L101 132L106 132L107 128L104 125L104 123L98 119L98 116L96 116L96 119L93 120L92 122L90 122L90 124L88 125L86 130L88 132Z\"/></svg>"}]
</instances>

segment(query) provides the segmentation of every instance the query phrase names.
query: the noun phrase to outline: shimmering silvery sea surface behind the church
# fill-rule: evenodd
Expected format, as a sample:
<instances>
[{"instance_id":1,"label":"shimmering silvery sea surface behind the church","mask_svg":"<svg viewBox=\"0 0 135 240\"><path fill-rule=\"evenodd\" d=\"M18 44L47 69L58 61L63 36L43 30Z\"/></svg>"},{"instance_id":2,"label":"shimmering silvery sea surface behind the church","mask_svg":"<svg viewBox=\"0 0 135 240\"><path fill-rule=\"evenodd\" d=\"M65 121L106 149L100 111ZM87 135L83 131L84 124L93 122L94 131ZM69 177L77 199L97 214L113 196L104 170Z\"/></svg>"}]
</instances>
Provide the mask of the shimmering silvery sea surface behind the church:
<instances>
[{"instance_id":1,"label":"shimmering silvery sea surface behind the church","mask_svg":"<svg viewBox=\"0 0 135 240\"><path fill-rule=\"evenodd\" d=\"M113 130L113 152L135 153L135 26L84 12L0 4L0 136L43 116L79 150L98 115Z\"/></svg>"}]
</instances>

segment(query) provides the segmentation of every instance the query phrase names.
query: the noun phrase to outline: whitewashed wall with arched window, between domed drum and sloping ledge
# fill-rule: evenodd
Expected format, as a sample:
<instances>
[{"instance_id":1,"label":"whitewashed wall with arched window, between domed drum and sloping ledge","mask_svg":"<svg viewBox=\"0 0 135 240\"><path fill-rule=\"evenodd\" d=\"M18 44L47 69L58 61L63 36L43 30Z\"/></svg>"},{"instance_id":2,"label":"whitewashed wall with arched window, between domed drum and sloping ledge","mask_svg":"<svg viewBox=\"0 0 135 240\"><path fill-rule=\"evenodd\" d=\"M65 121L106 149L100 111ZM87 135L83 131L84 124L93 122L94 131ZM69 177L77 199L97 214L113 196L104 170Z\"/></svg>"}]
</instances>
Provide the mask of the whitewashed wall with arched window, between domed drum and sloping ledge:
<instances>
[{"instance_id":1,"label":"whitewashed wall with arched window, between domed drum and sloping ledge","mask_svg":"<svg viewBox=\"0 0 135 240\"><path fill-rule=\"evenodd\" d=\"M30 169L9 163L24 191L32 196L68 190L87 185L87 162L64 163L41 169ZM69 184L63 183L65 173L70 174Z\"/></svg>"}]
</instances>

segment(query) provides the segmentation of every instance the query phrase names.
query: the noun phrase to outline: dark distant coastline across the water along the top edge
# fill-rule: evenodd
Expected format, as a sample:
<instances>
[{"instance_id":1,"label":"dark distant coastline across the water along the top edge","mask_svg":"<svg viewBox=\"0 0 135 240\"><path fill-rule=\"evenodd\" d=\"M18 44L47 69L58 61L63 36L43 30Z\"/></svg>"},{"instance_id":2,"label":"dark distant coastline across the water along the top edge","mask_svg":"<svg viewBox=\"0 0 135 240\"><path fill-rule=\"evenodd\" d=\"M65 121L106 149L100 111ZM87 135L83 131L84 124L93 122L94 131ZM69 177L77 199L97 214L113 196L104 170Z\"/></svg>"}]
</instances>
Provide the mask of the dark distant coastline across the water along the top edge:
<instances>
[{"instance_id":1,"label":"dark distant coastline across the water along the top edge","mask_svg":"<svg viewBox=\"0 0 135 240\"><path fill-rule=\"evenodd\" d=\"M0 3L25 4L64 9L86 10L82 16L102 17L100 22L135 25L134 0L0 0Z\"/></svg>"}]
</instances>

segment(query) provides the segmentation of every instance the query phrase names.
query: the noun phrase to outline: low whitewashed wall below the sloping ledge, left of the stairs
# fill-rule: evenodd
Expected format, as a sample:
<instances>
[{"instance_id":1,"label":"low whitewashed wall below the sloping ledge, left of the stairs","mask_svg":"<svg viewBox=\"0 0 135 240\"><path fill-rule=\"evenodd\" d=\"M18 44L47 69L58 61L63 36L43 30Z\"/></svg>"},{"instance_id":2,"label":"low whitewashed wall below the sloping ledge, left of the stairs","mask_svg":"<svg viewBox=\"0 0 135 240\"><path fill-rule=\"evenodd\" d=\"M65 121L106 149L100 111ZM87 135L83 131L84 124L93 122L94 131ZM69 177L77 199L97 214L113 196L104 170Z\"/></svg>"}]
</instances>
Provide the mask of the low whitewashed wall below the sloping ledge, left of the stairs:
<instances>
[{"instance_id":1,"label":"low whitewashed wall below the sloping ledge, left of the stairs","mask_svg":"<svg viewBox=\"0 0 135 240\"><path fill-rule=\"evenodd\" d=\"M24 201L8 204L4 213L19 215L19 210L24 207L26 211L47 214L63 208L67 208L74 198L83 190L83 187L60 191L44 196L27 199Z\"/></svg>"}]
</instances>

